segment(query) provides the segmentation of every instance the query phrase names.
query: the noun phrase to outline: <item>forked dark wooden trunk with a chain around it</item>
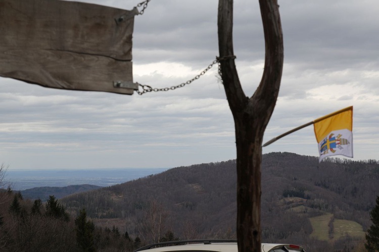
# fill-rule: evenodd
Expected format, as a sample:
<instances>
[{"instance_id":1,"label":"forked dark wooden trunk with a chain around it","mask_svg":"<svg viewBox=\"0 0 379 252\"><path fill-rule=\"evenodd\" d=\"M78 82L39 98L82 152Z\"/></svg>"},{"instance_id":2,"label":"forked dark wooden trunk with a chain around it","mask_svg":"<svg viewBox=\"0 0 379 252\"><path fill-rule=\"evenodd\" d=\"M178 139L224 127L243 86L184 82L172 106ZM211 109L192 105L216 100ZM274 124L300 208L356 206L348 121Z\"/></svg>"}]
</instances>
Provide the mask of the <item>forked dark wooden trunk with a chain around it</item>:
<instances>
[{"instance_id":1,"label":"forked dark wooden trunk with a chain around it","mask_svg":"<svg viewBox=\"0 0 379 252\"><path fill-rule=\"evenodd\" d=\"M283 39L277 0L259 0L265 37L265 66L252 97L242 90L234 64L233 1L219 0L221 77L234 118L237 149L237 238L240 252L261 251L262 141L275 107L283 67Z\"/></svg>"}]
</instances>

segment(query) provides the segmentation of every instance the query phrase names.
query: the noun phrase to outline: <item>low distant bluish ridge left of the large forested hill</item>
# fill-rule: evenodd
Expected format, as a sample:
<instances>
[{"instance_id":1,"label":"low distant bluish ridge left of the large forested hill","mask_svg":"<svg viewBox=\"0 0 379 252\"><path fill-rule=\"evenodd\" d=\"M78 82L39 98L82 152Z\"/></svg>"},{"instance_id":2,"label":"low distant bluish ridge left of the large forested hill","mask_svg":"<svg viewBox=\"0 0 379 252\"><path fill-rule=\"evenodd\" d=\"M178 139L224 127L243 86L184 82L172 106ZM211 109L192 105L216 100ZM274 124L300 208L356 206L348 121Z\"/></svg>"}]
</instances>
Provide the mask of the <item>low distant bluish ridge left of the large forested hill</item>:
<instances>
[{"instance_id":1,"label":"low distant bluish ridge left of the large forested hill","mask_svg":"<svg viewBox=\"0 0 379 252\"><path fill-rule=\"evenodd\" d=\"M61 199L71 194L83 193L87 191L97 190L102 186L92 184L78 184L68 185L63 187L58 186L42 186L34 187L26 190L19 191L25 199L36 200L40 199L45 201L49 196L55 196L56 199Z\"/></svg>"}]
</instances>

